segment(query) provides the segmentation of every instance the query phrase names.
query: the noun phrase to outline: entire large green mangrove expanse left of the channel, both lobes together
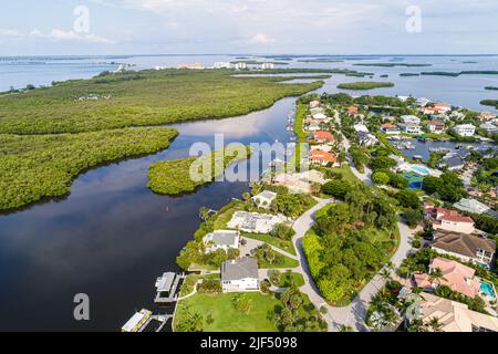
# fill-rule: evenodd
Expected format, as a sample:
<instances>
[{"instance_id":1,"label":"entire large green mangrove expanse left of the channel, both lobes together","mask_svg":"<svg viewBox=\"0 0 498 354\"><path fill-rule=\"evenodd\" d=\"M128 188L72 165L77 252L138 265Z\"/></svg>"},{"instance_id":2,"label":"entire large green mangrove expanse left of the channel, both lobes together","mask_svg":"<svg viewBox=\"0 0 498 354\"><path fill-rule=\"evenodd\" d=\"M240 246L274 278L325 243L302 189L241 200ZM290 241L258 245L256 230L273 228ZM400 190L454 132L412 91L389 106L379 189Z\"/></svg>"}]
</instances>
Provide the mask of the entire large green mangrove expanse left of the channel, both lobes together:
<instances>
[{"instance_id":1,"label":"entire large green mangrove expanse left of the channel, both lobes together","mask_svg":"<svg viewBox=\"0 0 498 354\"><path fill-rule=\"evenodd\" d=\"M147 126L245 115L323 85L234 73L104 72L1 95L0 210L64 196L80 173L165 149L178 134Z\"/></svg>"}]
</instances>

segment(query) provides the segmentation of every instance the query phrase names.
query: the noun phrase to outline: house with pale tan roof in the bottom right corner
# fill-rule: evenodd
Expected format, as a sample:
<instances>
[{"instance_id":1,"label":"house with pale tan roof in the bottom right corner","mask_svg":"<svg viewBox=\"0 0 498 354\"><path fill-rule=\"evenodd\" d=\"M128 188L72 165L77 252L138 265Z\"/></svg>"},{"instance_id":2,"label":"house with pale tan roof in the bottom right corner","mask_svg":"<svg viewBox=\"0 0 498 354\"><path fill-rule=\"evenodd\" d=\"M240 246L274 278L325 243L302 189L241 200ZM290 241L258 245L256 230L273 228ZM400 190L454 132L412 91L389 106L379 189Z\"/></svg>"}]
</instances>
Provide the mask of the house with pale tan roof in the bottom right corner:
<instances>
[{"instance_id":1,"label":"house with pale tan roof in the bottom right corner","mask_svg":"<svg viewBox=\"0 0 498 354\"><path fill-rule=\"evenodd\" d=\"M471 311L460 302L424 294L421 310L419 320L429 323L437 319L442 332L498 332L497 317Z\"/></svg>"}]
</instances>

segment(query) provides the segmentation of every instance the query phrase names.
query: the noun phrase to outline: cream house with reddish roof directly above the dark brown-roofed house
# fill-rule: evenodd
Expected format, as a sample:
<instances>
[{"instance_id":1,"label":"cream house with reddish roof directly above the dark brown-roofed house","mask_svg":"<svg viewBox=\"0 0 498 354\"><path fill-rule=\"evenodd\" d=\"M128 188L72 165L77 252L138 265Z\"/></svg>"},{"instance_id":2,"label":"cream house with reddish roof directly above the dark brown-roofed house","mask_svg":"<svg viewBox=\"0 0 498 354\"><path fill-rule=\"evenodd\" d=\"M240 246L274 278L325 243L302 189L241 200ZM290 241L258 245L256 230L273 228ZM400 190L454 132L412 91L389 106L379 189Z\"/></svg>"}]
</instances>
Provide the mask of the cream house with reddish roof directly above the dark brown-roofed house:
<instances>
[{"instance_id":1,"label":"cream house with reddish roof directly above the dark brown-roofed house","mask_svg":"<svg viewBox=\"0 0 498 354\"><path fill-rule=\"evenodd\" d=\"M442 229L463 233L473 233L476 231L474 220L463 216L457 210L436 208L432 202L425 202L424 207L425 217L433 223L435 230Z\"/></svg>"}]
</instances>

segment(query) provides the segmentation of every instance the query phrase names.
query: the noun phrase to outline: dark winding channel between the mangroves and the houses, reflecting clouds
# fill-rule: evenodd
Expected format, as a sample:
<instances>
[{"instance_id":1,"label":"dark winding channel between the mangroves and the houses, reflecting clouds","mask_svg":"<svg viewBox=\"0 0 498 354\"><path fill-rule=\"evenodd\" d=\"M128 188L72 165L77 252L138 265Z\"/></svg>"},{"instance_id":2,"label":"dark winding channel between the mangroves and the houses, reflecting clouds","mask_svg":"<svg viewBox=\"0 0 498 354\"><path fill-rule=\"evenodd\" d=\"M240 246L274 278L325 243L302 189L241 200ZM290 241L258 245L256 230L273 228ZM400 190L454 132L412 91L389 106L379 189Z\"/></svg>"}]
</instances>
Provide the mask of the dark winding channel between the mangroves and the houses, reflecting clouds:
<instances>
[{"instance_id":1,"label":"dark winding channel between the mangroves and the houses, reflecting clouds","mask_svg":"<svg viewBox=\"0 0 498 354\"><path fill-rule=\"evenodd\" d=\"M147 167L188 156L191 144L287 142L295 98L247 116L175 125L179 137L159 154L91 170L61 201L0 216L0 331L117 331L135 310L151 308L154 282L175 270L203 206L240 198L247 183L215 183L170 198L146 188ZM73 296L86 293L91 321L73 319Z\"/></svg>"}]
</instances>

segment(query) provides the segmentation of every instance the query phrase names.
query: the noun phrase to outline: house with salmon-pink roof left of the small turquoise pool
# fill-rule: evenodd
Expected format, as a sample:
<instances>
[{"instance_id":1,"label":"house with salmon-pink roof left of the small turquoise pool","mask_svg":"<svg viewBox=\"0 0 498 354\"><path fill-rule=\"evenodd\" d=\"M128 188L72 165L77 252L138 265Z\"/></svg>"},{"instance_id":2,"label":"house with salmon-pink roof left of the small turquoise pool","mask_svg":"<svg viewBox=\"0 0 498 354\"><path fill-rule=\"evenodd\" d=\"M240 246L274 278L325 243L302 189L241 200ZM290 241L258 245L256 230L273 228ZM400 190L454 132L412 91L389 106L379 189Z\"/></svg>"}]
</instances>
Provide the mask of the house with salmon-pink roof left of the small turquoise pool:
<instances>
[{"instance_id":1,"label":"house with salmon-pink roof left of the small turquoise pool","mask_svg":"<svg viewBox=\"0 0 498 354\"><path fill-rule=\"evenodd\" d=\"M437 269L442 271L443 278L434 281L430 274ZM428 274L415 273L413 281L416 287L428 292L439 285L446 285L453 291L474 299L480 293L480 282L474 277L476 271L470 267L438 257L430 262Z\"/></svg>"}]
</instances>

